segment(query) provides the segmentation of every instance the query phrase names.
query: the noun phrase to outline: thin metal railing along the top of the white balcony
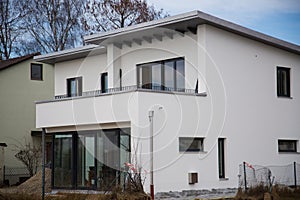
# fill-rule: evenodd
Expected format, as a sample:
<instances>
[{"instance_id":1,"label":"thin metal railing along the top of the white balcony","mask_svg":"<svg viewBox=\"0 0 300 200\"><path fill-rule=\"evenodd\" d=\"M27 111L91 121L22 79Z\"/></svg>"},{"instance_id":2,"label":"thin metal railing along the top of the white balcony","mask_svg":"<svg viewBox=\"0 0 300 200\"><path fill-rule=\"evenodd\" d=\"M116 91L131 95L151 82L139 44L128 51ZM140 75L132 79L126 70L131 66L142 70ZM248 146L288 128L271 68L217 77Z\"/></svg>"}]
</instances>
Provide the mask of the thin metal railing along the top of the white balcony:
<instances>
[{"instance_id":1,"label":"thin metal railing along the top of the white balcony","mask_svg":"<svg viewBox=\"0 0 300 200\"><path fill-rule=\"evenodd\" d=\"M178 93L178 94L190 94L190 95L201 95L198 93L197 90L194 89L185 89L185 88L169 88L164 86L124 86L124 87L116 87L116 88L108 88L105 90L93 90L93 91L86 91L82 92L81 95L78 96L68 96L65 95L57 95L55 96L56 100L59 99L66 99L66 98L76 98L76 97L93 97L93 96L101 96L106 94L115 94L121 92L130 92L130 91L155 91L155 92L162 92L162 93Z\"/></svg>"}]
</instances>

